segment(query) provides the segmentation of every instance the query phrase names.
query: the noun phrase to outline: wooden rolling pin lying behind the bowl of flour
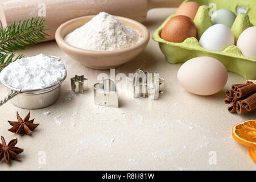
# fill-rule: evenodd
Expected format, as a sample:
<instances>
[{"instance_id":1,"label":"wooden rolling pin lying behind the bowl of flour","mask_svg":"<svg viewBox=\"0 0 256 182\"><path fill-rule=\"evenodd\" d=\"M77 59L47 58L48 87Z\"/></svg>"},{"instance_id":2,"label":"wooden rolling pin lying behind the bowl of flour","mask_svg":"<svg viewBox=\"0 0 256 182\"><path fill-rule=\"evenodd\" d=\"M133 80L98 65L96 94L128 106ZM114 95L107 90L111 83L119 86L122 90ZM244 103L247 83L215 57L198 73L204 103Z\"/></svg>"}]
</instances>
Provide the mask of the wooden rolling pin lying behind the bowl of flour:
<instances>
[{"instance_id":1,"label":"wooden rolling pin lying behind the bowl of flour","mask_svg":"<svg viewBox=\"0 0 256 182\"><path fill-rule=\"evenodd\" d=\"M61 23L105 11L143 22L147 11L155 7L178 7L183 0L19 0L0 4L0 26L36 16L45 16L48 40L53 40Z\"/></svg>"}]
</instances>

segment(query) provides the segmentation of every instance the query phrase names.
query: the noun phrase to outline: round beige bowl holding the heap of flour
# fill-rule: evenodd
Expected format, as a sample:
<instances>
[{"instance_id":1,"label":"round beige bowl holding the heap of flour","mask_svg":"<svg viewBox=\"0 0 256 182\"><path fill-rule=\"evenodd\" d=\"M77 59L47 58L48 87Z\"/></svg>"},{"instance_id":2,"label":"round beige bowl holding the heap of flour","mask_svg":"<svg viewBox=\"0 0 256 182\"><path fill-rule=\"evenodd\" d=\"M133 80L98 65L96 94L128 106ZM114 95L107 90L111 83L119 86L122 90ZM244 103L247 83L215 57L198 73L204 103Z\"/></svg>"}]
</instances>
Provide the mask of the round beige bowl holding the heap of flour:
<instances>
[{"instance_id":1,"label":"round beige bowl holding the heap of flour","mask_svg":"<svg viewBox=\"0 0 256 182\"><path fill-rule=\"evenodd\" d=\"M61 24L55 33L55 39L59 47L67 53L73 59L84 64L86 67L94 69L110 69L118 67L119 65L126 63L138 56L139 53L147 46L147 43L150 39L150 33L143 24L136 22L135 20L124 18L121 16L115 16L121 22L125 23L127 26L130 26L134 30L137 30L142 35L142 40L138 44L115 51L91 51L86 49L77 48L71 46L65 42L64 37L69 33L75 30L76 28L81 27L86 22L89 22L95 15L91 16L82 16L80 18L75 18Z\"/></svg>"}]
</instances>

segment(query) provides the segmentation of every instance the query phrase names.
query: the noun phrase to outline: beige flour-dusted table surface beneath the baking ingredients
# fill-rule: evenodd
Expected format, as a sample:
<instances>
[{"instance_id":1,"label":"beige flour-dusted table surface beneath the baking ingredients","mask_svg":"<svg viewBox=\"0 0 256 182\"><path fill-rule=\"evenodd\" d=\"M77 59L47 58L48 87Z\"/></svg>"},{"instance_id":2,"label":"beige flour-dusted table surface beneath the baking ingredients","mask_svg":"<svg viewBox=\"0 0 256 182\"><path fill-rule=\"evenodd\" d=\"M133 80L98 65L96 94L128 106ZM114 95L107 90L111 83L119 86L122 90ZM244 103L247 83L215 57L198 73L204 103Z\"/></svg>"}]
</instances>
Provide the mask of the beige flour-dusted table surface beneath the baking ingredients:
<instances>
[{"instance_id":1,"label":"beige flour-dusted table surface beneath the baking ingredients","mask_svg":"<svg viewBox=\"0 0 256 182\"><path fill-rule=\"evenodd\" d=\"M144 23L151 35L175 9L154 9ZM28 110L8 102L1 106L0 134L7 142L18 138L24 148L19 162L0 162L0 170L255 170L248 148L232 138L232 126L255 119L256 113L228 113L225 90L245 80L229 73L225 88L214 96L201 97L186 92L177 82L181 64L168 64L150 40L134 60L115 70L133 73L136 69L157 70L165 78L164 94L159 100L131 98L119 93L119 108L93 104L92 86L102 71L89 69L72 60L55 42L42 43L20 51L27 56L44 53L61 57L68 76L60 99L45 109L32 110L31 118L40 126L32 136L20 137L7 129L7 120L15 121L15 112L24 117ZM103 71L110 73L109 71ZM86 94L73 94L70 78L75 74L89 78ZM119 88L124 90L124 88ZM0 97L6 96L0 85ZM44 115L44 112L51 114ZM211 156L216 164L210 164ZM42 163L45 155L46 163Z\"/></svg>"}]
</instances>

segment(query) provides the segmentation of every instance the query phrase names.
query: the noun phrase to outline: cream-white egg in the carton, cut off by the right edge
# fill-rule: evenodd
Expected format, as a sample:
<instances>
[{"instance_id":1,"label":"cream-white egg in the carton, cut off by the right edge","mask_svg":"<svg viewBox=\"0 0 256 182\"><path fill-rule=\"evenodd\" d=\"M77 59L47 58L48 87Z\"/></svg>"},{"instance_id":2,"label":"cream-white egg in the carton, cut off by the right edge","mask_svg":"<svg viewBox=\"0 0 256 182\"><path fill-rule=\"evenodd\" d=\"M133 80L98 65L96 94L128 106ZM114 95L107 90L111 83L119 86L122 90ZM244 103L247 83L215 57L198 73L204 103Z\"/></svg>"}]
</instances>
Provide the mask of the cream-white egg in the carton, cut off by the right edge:
<instances>
[{"instance_id":1,"label":"cream-white egg in the carton, cut off by the right edge","mask_svg":"<svg viewBox=\"0 0 256 182\"><path fill-rule=\"evenodd\" d=\"M256 26L242 32L237 40L237 47L246 57L256 59Z\"/></svg>"}]
</instances>

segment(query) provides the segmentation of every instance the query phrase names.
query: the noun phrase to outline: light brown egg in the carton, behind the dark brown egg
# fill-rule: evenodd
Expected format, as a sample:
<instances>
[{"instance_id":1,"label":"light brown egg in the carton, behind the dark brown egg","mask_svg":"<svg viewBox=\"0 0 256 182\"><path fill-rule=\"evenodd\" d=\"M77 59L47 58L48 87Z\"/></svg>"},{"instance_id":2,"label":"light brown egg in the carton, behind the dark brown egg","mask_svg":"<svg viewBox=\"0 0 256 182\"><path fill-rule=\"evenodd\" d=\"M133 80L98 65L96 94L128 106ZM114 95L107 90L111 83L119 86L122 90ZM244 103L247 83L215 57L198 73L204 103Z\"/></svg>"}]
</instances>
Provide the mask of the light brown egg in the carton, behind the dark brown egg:
<instances>
[{"instance_id":1,"label":"light brown egg in the carton, behind the dark brown egg","mask_svg":"<svg viewBox=\"0 0 256 182\"><path fill-rule=\"evenodd\" d=\"M199 3L197 2L193 2L193 1L186 2L180 5L180 7L175 12L175 16L184 15L184 16L188 16L191 19L194 19L196 16L197 10L199 9L199 6L200 6Z\"/></svg>"}]
</instances>

